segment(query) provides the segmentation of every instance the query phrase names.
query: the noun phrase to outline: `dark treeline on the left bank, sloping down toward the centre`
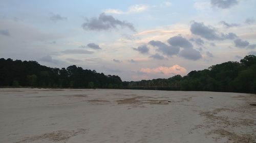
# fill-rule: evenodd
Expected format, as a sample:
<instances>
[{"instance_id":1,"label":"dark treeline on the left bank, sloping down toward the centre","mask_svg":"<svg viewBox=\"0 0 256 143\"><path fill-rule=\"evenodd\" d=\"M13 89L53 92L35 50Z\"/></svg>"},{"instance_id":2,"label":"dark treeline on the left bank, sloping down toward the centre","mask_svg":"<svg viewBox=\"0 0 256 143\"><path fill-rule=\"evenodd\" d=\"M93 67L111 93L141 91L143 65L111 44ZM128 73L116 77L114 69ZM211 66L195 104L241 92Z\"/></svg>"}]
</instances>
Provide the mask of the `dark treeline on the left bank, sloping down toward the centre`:
<instances>
[{"instance_id":1,"label":"dark treeline on the left bank, sloping down toward the centre","mask_svg":"<svg viewBox=\"0 0 256 143\"><path fill-rule=\"evenodd\" d=\"M41 66L35 61L0 59L0 87L122 88L116 75L104 75L75 65L66 68Z\"/></svg>"}]
</instances>

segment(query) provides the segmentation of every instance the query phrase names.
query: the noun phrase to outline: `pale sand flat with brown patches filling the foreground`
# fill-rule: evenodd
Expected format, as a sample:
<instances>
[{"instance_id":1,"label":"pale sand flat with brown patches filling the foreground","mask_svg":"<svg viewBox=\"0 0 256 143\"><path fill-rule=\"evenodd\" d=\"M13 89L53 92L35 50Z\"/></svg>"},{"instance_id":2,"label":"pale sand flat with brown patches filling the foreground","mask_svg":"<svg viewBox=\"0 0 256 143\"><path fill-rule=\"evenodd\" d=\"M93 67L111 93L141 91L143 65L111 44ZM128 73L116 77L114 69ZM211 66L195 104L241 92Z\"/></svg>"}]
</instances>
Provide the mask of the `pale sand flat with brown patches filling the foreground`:
<instances>
[{"instance_id":1,"label":"pale sand flat with brown patches filling the foreground","mask_svg":"<svg viewBox=\"0 0 256 143\"><path fill-rule=\"evenodd\" d=\"M241 93L0 89L0 142L256 142L255 103Z\"/></svg>"}]
</instances>

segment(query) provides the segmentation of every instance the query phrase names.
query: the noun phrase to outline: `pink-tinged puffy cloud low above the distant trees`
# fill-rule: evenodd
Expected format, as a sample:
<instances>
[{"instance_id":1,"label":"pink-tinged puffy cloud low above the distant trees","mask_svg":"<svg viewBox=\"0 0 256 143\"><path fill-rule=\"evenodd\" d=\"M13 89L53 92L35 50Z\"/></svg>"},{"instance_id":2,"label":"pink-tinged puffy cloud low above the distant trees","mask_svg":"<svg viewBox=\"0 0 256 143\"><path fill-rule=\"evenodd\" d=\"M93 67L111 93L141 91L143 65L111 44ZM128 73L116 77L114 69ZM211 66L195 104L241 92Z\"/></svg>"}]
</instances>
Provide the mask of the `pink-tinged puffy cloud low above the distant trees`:
<instances>
[{"instance_id":1,"label":"pink-tinged puffy cloud low above the distant trees","mask_svg":"<svg viewBox=\"0 0 256 143\"><path fill-rule=\"evenodd\" d=\"M165 75L170 75L170 74L180 74L180 75L184 75L186 73L186 69L179 66L179 65L174 65L172 67L157 67L157 68L142 68L140 69L141 72L144 73L163 73Z\"/></svg>"}]
</instances>

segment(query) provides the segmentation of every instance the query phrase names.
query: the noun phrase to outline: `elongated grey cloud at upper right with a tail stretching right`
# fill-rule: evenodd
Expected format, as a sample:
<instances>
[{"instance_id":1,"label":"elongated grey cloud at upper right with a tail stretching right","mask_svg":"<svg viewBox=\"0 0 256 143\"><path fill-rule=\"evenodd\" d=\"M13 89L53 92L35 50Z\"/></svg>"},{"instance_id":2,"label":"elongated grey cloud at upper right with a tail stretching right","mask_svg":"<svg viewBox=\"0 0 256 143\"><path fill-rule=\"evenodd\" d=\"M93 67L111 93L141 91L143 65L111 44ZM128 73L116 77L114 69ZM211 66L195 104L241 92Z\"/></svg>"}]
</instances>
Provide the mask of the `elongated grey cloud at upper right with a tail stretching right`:
<instances>
[{"instance_id":1,"label":"elongated grey cloud at upper right with a tail stretching right","mask_svg":"<svg viewBox=\"0 0 256 143\"><path fill-rule=\"evenodd\" d=\"M204 23L193 22L190 26L191 33L195 35L199 35L207 40L226 40L226 39L234 39L237 37L234 33L223 34L219 33L216 28L211 26L206 26Z\"/></svg>"}]
</instances>

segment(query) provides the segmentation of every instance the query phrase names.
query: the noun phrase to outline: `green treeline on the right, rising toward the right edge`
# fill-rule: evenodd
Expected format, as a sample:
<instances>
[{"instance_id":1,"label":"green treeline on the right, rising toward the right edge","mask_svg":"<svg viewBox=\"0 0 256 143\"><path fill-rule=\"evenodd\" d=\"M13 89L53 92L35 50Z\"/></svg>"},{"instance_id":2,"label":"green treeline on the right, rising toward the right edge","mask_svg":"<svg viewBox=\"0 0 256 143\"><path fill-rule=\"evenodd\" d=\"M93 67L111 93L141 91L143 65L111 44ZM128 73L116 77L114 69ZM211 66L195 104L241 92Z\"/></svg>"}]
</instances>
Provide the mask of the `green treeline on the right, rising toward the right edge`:
<instances>
[{"instance_id":1,"label":"green treeline on the right, rising toward the right edge","mask_svg":"<svg viewBox=\"0 0 256 143\"><path fill-rule=\"evenodd\" d=\"M186 76L168 79L124 81L127 89L180 91L216 91L256 93L256 56L247 55L240 62L226 62L205 70L191 71Z\"/></svg>"}]
</instances>

